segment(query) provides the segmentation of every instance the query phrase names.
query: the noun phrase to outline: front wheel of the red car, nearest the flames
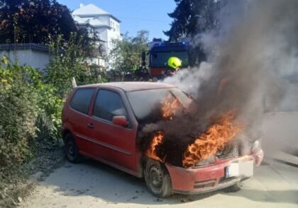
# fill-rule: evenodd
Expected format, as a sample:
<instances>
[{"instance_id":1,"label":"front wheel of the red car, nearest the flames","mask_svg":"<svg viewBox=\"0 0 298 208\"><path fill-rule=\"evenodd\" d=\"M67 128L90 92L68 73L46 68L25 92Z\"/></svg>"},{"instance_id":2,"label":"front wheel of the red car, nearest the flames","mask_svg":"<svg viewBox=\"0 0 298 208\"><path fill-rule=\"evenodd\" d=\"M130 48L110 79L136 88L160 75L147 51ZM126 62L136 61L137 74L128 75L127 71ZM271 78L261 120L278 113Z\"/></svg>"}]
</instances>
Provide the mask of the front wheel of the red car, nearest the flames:
<instances>
[{"instance_id":1,"label":"front wheel of the red car, nearest the flames","mask_svg":"<svg viewBox=\"0 0 298 208\"><path fill-rule=\"evenodd\" d=\"M148 158L144 167L144 178L150 192L156 197L172 195L171 178L162 163Z\"/></svg>"}]
</instances>

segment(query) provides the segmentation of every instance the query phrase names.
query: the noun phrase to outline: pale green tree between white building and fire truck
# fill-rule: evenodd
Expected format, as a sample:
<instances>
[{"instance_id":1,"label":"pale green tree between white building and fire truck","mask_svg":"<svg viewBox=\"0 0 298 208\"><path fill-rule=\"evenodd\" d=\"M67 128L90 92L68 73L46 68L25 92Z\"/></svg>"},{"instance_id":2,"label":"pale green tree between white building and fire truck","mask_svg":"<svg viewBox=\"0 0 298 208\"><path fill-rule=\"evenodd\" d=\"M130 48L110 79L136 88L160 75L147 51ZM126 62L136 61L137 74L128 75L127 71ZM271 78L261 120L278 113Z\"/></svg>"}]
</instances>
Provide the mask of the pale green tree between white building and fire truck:
<instances>
[{"instance_id":1,"label":"pale green tree between white building and fire truck","mask_svg":"<svg viewBox=\"0 0 298 208\"><path fill-rule=\"evenodd\" d=\"M114 48L109 53L111 67L116 71L130 71L140 65L140 53L148 50L147 30L138 31L136 37L126 33L122 40L114 40Z\"/></svg>"}]
</instances>

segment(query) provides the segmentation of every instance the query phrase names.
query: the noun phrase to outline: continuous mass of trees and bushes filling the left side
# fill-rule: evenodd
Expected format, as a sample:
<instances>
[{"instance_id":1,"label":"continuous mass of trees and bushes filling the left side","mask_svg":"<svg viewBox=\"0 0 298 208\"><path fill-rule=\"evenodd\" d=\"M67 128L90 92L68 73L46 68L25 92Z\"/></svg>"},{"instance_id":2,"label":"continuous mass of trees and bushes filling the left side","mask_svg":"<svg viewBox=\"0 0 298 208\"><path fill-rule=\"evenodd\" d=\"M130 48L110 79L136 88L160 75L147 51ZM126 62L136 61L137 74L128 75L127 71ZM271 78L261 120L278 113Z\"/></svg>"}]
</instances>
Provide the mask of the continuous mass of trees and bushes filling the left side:
<instances>
[{"instance_id":1,"label":"continuous mass of trees and bushes filling the left side","mask_svg":"<svg viewBox=\"0 0 298 208\"><path fill-rule=\"evenodd\" d=\"M72 77L78 85L106 81L95 32L77 29L55 0L0 0L0 43L48 45L51 56L45 71L0 57L0 207L17 204L27 175L63 158L61 111Z\"/></svg>"}]
</instances>

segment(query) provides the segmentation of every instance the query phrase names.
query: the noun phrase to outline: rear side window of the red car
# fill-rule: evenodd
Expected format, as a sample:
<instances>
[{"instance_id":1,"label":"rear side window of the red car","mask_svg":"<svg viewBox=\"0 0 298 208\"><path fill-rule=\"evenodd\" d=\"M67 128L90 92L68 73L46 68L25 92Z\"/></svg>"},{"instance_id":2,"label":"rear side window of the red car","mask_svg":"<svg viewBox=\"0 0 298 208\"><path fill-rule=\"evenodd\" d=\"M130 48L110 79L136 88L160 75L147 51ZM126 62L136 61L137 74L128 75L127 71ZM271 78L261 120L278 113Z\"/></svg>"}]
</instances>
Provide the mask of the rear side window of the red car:
<instances>
[{"instance_id":1,"label":"rear side window of the red car","mask_svg":"<svg viewBox=\"0 0 298 208\"><path fill-rule=\"evenodd\" d=\"M72 101L70 106L84 114L88 114L89 106L91 103L92 95L95 91L95 88L79 88L75 92L75 95L72 96Z\"/></svg>"}]
</instances>

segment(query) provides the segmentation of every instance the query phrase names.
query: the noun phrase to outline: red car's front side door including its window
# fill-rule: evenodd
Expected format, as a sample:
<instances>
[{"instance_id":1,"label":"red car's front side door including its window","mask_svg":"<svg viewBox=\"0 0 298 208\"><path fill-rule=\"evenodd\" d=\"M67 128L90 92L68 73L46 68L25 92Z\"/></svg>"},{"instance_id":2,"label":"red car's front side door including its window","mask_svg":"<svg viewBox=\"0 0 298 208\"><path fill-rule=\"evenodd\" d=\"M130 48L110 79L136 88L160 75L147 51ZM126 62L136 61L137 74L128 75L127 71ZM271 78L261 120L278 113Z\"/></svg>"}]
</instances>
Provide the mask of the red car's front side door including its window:
<instances>
[{"instance_id":1,"label":"red car's front side door including its window","mask_svg":"<svg viewBox=\"0 0 298 208\"><path fill-rule=\"evenodd\" d=\"M133 170L136 129L132 129L131 125L123 127L113 123L113 117L117 115L125 116L129 123L127 107L117 91L99 89L90 118L90 124L94 126L90 139L96 145L93 151L96 157L114 166Z\"/></svg>"}]
</instances>

